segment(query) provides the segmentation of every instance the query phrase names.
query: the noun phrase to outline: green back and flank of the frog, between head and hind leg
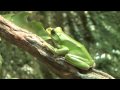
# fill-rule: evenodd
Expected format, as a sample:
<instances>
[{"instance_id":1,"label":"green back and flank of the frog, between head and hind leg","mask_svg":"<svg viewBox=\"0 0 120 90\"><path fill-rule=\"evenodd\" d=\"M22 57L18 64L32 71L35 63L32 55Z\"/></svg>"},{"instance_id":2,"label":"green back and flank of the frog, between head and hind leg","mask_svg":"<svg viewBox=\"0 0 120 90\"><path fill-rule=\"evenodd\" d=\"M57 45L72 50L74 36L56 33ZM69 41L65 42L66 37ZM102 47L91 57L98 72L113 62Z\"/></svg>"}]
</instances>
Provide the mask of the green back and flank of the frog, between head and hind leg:
<instances>
[{"instance_id":1,"label":"green back and flank of the frog, between head and hind leg","mask_svg":"<svg viewBox=\"0 0 120 90\"><path fill-rule=\"evenodd\" d=\"M84 45L66 34L61 35L63 35L60 36L61 44L67 46L70 49L69 53L80 55L83 58L88 58L89 60L92 60L92 57L90 56Z\"/></svg>"}]
</instances>

